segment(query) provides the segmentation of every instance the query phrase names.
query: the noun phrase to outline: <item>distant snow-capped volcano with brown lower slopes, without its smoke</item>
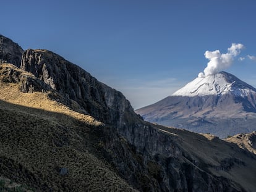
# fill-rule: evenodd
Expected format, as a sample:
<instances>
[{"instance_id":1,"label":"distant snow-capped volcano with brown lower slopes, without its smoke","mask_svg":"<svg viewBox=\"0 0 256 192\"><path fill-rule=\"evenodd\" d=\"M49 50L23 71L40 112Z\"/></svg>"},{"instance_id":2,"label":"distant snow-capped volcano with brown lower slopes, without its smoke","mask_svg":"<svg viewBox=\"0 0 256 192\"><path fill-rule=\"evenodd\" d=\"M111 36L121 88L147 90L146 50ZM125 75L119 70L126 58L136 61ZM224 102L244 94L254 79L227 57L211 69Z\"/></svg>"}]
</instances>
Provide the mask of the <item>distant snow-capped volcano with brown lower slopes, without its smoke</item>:
<instances>
[{"instance_id":1,"label":"distant snow-capped volcano with brown lower slopes, without its smoke","mask_svg":"<svg viewBox=\"0 0 256 192\"><path fill-rule=\"evenodd\" d=\"M227 72L195 78L137 114L166 126L221 138L256 130L256 89Z\"/></svg>"}]
</instances>

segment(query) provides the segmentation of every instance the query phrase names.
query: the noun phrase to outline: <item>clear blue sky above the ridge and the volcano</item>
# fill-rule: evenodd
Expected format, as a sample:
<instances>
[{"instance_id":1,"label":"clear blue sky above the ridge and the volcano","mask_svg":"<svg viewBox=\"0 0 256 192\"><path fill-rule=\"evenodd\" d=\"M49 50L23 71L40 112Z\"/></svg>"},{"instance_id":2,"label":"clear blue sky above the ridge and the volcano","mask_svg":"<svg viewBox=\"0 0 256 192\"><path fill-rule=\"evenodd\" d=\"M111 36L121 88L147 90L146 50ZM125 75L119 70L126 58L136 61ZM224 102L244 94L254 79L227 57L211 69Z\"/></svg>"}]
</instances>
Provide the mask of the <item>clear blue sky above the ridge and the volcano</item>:
<instances>
[{"instance_id":1,"label":"clear blue sky above the ridge and the volcano","mask_svg":"<svg viewBox=\"0 0 256 192\"><path fill-rule=\"evenodd\" d=\"M207 66L205 51L245 49L226 69L256 86L256 1L8 0L0 34L49 49L122 91L134 109L169 96ZM239 61L239 58L244 60Z\"/></svg>"}]
</instances>

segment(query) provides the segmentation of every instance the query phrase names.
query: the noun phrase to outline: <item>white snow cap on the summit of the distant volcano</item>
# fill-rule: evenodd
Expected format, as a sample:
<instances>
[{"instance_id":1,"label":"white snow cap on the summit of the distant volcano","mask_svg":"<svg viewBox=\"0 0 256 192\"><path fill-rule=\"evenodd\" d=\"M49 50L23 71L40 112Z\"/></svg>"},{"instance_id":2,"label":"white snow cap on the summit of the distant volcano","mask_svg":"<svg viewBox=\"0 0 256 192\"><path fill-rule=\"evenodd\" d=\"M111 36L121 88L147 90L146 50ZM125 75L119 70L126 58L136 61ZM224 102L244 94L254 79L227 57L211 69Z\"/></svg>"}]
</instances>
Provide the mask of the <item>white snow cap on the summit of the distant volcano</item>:
<instances>
[{"instance_id":1,"label":"white snow cap on the summit of the distant volcano","mask_svg":"<svg viewBox=\"0 0 256 192\"><path fill-rule=\"evenodd\" d=\"M172 96L194 97L228 93L244 98L250 93L256 93L256 89L230 73L220 72L203 78L197 77Z\"/></svg>"}]
</instances>

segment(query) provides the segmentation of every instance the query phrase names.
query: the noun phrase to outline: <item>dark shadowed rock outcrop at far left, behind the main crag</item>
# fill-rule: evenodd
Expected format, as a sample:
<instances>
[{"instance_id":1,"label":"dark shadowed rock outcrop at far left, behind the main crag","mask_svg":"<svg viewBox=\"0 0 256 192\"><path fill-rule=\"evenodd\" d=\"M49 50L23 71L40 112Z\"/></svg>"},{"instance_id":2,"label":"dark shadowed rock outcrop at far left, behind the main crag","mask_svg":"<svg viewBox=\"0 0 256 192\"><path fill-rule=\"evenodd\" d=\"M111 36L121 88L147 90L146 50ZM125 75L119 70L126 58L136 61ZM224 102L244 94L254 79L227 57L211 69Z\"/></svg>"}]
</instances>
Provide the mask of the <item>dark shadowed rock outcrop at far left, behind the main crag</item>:
<instances>
[{"instance_id":1,"label":"dark shadowed rock outcrop at far left, behind the main crag","mask_svg":"<svg viewBox=\"0 0 256 192\"><path fill-rule=\"evenodd\" d=\"M23 49L19 44L14 43L9 38L0 35L0 63L6 62L20 67Z\"/></svg>"}]
</instances>

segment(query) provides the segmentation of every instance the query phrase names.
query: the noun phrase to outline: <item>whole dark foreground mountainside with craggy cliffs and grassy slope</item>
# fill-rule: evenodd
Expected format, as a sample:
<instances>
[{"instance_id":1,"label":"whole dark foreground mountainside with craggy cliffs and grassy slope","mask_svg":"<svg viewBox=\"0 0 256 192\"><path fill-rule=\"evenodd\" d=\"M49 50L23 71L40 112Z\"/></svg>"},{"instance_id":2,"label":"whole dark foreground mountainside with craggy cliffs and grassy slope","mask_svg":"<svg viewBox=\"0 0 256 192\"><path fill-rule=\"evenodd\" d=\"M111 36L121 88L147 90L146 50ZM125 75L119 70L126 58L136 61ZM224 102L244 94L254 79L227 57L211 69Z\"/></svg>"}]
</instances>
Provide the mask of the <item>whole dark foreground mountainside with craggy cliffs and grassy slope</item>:
<instances>
[{"instance_id":1,"label":"whole dark foreground mountainside with craggy cliffs and grassy slope","mask_svg":"<svg viewBox=\"0 0 256 192\"><path fill-rule=\"evenodd\" d=\"M4 41L0 191L256 191L255 154L145 122L81 67Z\"/></svg>"}]
</instances>

